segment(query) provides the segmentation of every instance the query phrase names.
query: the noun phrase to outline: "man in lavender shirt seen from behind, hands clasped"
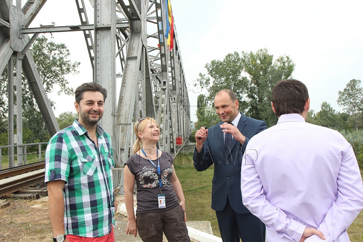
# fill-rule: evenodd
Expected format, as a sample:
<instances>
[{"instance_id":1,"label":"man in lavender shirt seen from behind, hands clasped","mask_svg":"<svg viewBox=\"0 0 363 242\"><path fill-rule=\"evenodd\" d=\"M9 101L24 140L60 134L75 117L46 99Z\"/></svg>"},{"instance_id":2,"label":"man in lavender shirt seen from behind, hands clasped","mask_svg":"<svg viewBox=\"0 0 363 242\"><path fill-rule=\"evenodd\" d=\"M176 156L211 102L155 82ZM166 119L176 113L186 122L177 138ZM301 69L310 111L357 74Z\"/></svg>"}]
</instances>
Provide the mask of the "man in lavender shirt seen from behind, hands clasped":
<instances>
[{"instance_id":1,"label":"man in lavender shirt seen from behind, hands clasped","mask_svg":"<svg viewBox=\"0 0 363 242\"><path fill-rule=\"evenodd\" d=\"M255 135L241 165L244 205L266 224L266 241L346 242L363 209L351 145L337 131L305 122L306 86L283 80L272 90L277 125Z\"/></svg>"}]
</instances>

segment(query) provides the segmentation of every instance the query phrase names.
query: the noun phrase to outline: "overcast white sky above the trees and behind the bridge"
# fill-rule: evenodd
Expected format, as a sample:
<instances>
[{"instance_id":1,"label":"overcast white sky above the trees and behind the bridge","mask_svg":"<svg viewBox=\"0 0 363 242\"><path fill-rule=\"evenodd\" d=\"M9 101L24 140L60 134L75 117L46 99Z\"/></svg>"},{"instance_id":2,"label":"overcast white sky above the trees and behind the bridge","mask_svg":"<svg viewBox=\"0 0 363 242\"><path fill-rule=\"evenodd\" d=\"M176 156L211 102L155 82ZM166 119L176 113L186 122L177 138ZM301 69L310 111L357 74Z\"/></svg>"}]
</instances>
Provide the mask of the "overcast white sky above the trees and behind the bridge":
<instances>
[{"instance_id":1,"label":"overcast white sky above the trees and behind the bridge","mask_svg":"<svg viewBox=\"0 0 363 242\"><path fill-rule=\"evenodd\" d=\"M75 1L59 3L48 0L30 27L51 22L55 26L78 25ZM261 48L274 58L288 55L292 59L292 76L307 85L315 111L323 101L341 110L336 102L338 91L351 79L363 80L362 1L171 0L171 7L189 85L199 73L206 74L204 66L213 59ZM93 22L93 15L89 18ZM83 33L53 33L52 37L52 41L68 46L73 61L81 62L80 74L68 77L71 86L92 81ZM194 121L198 94L192 88L189 91ZM74 111L73 97L50 98L56 102L56 116Z\"/></svg>"}]
</instances>

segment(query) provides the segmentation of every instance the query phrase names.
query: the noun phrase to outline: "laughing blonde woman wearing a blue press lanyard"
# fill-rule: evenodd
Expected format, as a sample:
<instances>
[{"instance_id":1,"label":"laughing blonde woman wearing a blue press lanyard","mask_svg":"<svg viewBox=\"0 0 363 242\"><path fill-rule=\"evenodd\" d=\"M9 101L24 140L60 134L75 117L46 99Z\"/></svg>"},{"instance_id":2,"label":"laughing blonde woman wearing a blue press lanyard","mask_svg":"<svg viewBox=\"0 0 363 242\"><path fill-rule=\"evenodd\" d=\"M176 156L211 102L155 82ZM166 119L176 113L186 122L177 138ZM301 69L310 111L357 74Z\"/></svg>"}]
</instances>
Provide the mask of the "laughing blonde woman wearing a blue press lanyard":
<instances>
[{"instance_id":1,"label":"laughing blonde woman wearing a blue press lanyard","mask_svg":"<svg viewBox=\"0 0 363 242\"><path fill-rule=\"evenodd\" d=\"M125 205L127 234L145 242L190 241L186 225L185 198L173 166L172 156L157 149L160 131L156 120L139 118L134 125L137 140L133 155L125 164ZM137 183L137 210L134 215L134 184Z\"/></svg>"}]
</instances>

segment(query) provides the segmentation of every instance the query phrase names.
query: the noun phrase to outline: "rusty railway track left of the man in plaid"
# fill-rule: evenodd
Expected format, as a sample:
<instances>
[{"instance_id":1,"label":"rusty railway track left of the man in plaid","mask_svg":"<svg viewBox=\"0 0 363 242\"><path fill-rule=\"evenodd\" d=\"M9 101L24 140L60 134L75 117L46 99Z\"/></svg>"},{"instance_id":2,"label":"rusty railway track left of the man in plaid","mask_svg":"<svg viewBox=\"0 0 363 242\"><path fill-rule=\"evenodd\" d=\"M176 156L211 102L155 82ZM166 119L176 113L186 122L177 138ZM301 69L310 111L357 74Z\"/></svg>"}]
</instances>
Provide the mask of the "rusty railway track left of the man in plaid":
<instances>
[{"instance_id":1,"label":"rusty railway track left of the man in plaid","mask_svg":"<svg viewBox=\"0 0 363 242\"><path fill-rule=\"evenodd\" d=\"M0 197L44 181L44 161L0 171Z\"/></svg>"}]
</instances>

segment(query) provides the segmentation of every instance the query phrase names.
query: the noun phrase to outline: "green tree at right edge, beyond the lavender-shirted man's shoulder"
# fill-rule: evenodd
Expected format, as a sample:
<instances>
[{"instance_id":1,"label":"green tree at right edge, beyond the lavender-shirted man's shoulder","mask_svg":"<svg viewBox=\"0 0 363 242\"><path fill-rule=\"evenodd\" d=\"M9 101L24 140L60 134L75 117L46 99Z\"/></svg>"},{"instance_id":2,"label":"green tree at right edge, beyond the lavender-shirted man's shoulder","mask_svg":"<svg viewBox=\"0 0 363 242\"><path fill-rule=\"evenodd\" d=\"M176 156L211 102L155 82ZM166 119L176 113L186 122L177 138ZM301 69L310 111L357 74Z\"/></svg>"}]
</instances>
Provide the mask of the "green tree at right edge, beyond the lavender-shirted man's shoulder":
<instances>
[{"instance_id":1,"label":"green tree at right edge, beyond the lavender-shirted man's shoulder","mask_svg":"<svg viewBox=\"0 0 363 242\"><path fill-rule=\"evenodd\" d=\"M363 88L360 87L360 80L352 79L345 86L343 91L338 92L338 105L350 114L348 122L358 130L363 126Z\"/></svg>"}]
</instances>

